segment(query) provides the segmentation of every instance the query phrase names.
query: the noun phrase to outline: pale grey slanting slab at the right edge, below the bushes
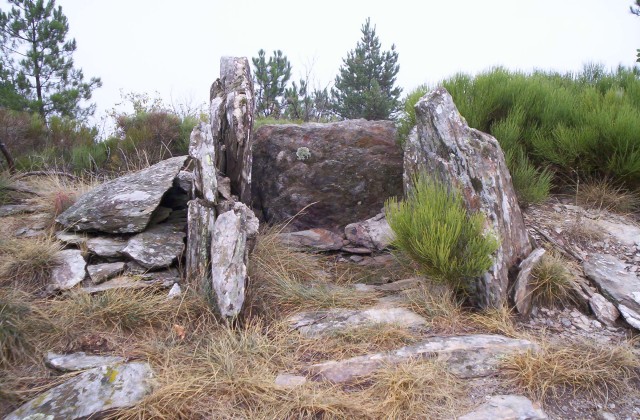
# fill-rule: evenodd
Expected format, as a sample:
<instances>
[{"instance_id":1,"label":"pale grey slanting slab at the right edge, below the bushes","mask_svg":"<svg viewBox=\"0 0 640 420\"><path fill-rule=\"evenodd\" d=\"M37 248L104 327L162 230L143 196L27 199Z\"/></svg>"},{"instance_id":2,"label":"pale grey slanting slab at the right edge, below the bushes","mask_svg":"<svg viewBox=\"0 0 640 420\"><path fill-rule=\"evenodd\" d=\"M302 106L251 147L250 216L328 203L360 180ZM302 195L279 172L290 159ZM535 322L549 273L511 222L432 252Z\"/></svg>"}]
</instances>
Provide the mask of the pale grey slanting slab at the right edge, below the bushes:
<instances>
[{"instance_id":1,"label":"pale grey slanting slab at the right edge, below the bushes","mask_svg":"<svg viewBox=\"0 0 640 420\"><path fill-rule=\"evenodd\" d=\"M608 254L591 255L582 267L602 294L618 306L629 325L640 329L640 278L629 271L630 267Z\"/></svg>"}]
</instances>

